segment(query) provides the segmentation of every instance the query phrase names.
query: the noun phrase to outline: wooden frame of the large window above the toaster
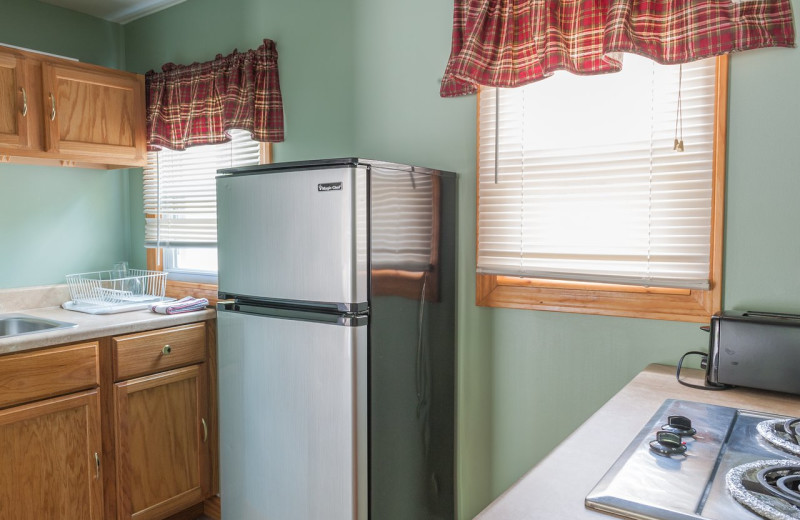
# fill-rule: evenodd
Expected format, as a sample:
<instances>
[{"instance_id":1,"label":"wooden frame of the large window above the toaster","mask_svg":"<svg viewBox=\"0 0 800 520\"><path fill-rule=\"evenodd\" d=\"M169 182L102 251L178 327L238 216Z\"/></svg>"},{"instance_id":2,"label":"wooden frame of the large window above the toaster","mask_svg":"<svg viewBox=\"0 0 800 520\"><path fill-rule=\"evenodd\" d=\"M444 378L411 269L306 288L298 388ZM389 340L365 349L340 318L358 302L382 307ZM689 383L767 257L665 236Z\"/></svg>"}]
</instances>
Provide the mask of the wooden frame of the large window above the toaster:
<instances>
[{"instance_id":1,"label":"wooden frame of the large window above the toaster","mask_svg":"<svg viewBox=\"0 0 800 520\"><path fill-rule=\"evenodd\" d=\"M709 289L665 289L477 273L475 276L475 303L477 305L696 323L707 323L712 314L720 311L725 216L728 57L727 55L719 56L716 60ZM478 107L480 107L480 98ZM480 140L480 128L478 128L477 135ZM480 147L478 146L477 149L479 150ZM479 174L480 167L477 167L476 170L476 173ZM476 202L477 220L480 214L480 191L478 189L476 189ZM476 236L477 229L476 227ZM477 249L478 241L476 240L476 262Z\"/></svg>"}]
</instances>

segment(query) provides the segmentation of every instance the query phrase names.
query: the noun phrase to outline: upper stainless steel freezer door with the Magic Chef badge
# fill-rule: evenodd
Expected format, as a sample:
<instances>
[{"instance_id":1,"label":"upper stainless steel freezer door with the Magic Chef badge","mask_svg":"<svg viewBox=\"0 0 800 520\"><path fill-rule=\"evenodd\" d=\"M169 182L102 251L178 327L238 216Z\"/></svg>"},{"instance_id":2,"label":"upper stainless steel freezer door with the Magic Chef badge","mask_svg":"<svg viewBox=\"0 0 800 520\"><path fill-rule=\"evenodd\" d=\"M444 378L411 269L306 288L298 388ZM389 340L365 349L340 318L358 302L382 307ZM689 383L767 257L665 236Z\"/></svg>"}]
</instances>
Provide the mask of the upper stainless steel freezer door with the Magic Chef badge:
<instances>
[{"instance_id":1,"label":"upper stainless steel freezer door with the Magic Chef badge","mask_svg":"<svg viewBox=\"0 0 800 520\"><path fill-rule=\"evenodd\" d=\"M366 308L366 185L350 166L218 177L220 293Z\"/></svg>"}]
</instances>

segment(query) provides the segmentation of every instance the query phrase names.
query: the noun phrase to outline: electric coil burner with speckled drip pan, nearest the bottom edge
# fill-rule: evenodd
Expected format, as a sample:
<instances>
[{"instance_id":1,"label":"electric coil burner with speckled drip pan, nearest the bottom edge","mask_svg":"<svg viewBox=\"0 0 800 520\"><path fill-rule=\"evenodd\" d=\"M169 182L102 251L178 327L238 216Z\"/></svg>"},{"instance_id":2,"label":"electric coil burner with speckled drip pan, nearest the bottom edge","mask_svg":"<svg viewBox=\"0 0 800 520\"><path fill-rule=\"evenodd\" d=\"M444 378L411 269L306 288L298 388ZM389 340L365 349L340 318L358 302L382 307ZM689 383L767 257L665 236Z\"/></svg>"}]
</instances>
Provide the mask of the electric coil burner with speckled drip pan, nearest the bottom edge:
<instances>
[{"instance_id":1,"label":"electric coil burner with speckled drip pan, nearest the bottom edge","mask_svg":"<svg viewBox=\"0 0 800 520\"><path fill-rule=\"evenodd\" d=\"M800 461L759 460L725 476L737 502L769 520L800 519Z\"/></svg>"}]
</instances>

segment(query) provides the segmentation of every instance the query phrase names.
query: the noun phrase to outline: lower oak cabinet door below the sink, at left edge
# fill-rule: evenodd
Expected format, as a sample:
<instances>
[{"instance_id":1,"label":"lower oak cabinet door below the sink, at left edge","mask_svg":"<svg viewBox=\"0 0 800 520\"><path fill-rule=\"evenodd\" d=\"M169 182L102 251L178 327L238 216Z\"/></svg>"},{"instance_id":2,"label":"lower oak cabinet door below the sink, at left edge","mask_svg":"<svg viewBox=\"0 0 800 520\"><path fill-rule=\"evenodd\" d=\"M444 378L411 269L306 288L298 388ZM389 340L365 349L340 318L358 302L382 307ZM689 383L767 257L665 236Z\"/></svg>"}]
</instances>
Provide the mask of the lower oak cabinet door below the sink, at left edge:
<instances>
[{"instance_id":1,"label":"lower oak cabinet door below the sink, at left edge","mask_svg":"<svg viewBox=\"0 0 800 520\"><path fill-rule=\"evenodd\" d=\"M97 390L0 411L0 518L102 520Z\"/></svg>"}]
</instances>

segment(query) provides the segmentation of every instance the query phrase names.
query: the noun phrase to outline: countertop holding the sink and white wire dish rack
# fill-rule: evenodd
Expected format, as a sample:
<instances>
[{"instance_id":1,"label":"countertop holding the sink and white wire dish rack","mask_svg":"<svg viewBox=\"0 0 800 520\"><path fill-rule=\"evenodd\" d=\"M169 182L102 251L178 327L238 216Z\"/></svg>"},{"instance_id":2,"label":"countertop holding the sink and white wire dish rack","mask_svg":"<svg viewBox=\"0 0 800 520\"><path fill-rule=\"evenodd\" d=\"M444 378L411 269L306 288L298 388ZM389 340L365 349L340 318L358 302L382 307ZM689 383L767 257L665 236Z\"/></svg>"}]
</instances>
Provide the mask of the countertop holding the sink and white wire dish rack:
<instances>
[{"instance_id":1,"label":"countertop holding the sink and white wire dish rack","mask_svg":"<svg viewBox=\"0 0 800 520\"><path fill-rule=\"evenodd\" d=\"M21 313L77 324L77 327L68 329L0 338L0 355L104 336L173 327L185 323L210 320L216 316L214 309L170 316L156 314L150 310L93 315L67 311L57 306L57 302L68 300L68 296L69 293L64 292L63 286L0 291L0 314Z\"/></svg>"}]
</instances>

